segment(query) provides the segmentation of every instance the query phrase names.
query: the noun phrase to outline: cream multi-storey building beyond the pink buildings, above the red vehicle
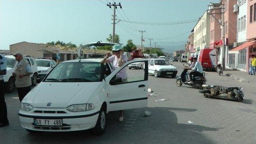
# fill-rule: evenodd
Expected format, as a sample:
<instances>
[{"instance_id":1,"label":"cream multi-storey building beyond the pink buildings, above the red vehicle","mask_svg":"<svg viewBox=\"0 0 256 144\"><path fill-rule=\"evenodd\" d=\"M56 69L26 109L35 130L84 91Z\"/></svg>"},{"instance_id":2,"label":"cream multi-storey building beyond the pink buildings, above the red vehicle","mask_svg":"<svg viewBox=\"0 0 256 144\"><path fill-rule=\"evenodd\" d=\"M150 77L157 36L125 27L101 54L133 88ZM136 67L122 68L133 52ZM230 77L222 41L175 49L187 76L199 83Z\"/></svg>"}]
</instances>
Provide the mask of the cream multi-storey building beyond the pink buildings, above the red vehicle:
<instances>
[{"instance_id":1,"label":"cream multi-storey building beyond the pink buildings, above the red vehicle","mask_svg":"<svg viewBox=\"0 0 256 144\"><path fill-rule=\"evenodd\" d=\"M205 12L194 27L194 49L199 51L210 46L210 16Z\"/></svg>"}]
</instances>

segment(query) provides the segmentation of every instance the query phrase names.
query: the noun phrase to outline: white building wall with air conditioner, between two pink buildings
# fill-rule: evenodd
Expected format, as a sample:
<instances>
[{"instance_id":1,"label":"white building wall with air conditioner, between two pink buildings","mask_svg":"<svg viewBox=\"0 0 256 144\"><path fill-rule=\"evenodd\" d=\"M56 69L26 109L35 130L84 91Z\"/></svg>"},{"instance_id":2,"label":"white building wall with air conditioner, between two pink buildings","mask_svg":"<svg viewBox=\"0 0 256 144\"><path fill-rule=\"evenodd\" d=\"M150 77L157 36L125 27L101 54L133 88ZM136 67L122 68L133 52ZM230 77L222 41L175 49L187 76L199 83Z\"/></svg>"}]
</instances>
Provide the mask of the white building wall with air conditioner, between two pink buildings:
<instances>
[{"instance_id":1,"label":"white building wall with air conditioner, between two pink buildings","mask_svg":"<svg viewBox=\"0 0 256 144\"><path fill-rule=\"evenodd\" d=\"M241 21L241 18L246 16L246 24L247 24L247 1L244 4L241 4L239 6L238 16L237 16L237 42L244 42L246 41L246 29L240 29L238 30L239 26L239 19ZM241 27L241 24L240 24ZM247 27L247 26L246 26Z\"/></svg>"}]
</instances>

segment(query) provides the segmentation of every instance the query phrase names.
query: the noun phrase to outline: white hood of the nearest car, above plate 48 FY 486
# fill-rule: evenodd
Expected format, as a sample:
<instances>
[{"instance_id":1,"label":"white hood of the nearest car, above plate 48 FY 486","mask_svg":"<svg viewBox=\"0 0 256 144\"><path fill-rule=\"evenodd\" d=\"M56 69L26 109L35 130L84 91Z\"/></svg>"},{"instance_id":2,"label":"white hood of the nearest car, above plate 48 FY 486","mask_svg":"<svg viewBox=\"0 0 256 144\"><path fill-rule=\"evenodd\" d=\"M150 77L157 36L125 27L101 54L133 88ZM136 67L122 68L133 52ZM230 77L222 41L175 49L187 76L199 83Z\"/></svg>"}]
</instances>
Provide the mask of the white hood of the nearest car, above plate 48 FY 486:
<instances>
[{"instance_id":1,"label":"white hood of the nearest car, above plate 48 FY 486","mask_svg":"<svg viewBox=\"0 0 256 144\"><path fill-rule=\"evenodd\" d=\"M41 82L22 100L40 108L66 108L85 104L102 82ZM46 106L48 102L52 104Z\"/></svg>"}]
</instances>

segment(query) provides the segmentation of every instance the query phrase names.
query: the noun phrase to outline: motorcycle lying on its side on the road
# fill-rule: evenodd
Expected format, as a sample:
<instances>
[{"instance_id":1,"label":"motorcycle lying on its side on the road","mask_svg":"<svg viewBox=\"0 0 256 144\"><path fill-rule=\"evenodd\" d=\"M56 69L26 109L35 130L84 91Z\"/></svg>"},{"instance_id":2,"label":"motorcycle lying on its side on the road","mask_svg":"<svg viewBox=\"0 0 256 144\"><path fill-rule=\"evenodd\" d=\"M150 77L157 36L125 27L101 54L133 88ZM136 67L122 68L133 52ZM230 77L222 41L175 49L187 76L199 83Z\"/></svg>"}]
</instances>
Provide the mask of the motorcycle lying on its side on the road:
<instances>
[{"instance_id":1,"label":"motorcycle lying on its side on the road","mask_svg":"<svg viewBox=\"0 0 256 144\"><path fill-rule=\"evenodd\" d=\"M244 92L242 88L238 87L225 87L219 85L206 85L203 84L203 90L199 90L206 98L228 98L242 102L244 100Z\"/></svg>"}]
</instances>

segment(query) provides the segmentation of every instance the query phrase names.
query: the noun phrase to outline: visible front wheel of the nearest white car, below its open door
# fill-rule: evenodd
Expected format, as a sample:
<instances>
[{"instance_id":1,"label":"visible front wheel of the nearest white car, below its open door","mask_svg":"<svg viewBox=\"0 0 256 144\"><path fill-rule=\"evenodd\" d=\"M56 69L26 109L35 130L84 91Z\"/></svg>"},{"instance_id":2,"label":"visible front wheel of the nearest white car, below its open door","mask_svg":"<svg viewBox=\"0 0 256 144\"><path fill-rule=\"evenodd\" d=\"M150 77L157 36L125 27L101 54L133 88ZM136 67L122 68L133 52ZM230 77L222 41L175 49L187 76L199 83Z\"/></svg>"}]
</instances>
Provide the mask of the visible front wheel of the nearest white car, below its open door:
<instances>
[{"instance_id":1,"label":"visible front wheel of the nearest white car, below its open door","mask_svg":"<svg viewBox=\"0 0 256 144\"><path fill-rule=\"evenodd\" d=\"M92 132L97 135L104 134L104 132L106 131L106 121L106 106L102 105L100 108L100 113L96 126L93 128Z\"/></svg>"}]
</instances>

